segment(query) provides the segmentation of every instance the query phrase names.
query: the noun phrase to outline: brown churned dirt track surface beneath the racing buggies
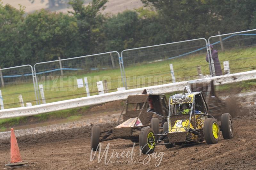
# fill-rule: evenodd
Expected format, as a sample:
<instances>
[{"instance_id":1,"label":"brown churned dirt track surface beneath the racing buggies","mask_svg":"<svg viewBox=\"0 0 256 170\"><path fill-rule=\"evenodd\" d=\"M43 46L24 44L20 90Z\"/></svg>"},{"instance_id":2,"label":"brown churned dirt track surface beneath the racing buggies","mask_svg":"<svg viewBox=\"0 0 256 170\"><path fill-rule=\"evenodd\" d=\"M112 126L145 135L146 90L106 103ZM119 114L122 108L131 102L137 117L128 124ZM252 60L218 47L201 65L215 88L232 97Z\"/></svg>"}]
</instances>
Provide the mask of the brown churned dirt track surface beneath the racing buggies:
<instances>
[{"instance_id":1,"label":"brown churned dirt track surface beneath the racing buggies","mask_svg":"<svg viewBox=\"0 0 256 170\"><path fill-rule=\"evenodd\" d=\"M247 109L234 119L235 137L218 144L208 145L205 142L194 145L181 145L166 149L157 146L153 155L140 155L138 144L130 140L116 139L102 142L103 155L108 143L108 155L98 163L99 152L90 161L91 125L83 128L59 130L55 132L18 137L21 156L28 161L27 169L255 169L256 167L256 96L243 99ZM102 124L101 129L108 129L115 124ZM133 149L133 150L132 150ZM111 154L132 152L134 158L111 158ZM93 152L94 154L95 152ZM164 155L163 155L164 154ZM128 154L129 155L129 154ZM92 155L93 156L93 155ZM161 160L161 156L163 156ZM150 158L150 160L149 160ZM10 160L9 139L0 140L0 166ZM110 160L108 162L108 160ZM161 160L161 161L160 161ZM144 161L144 162L143 162ZM146 164L148 162L148 164ZM143 163L145 165L143 165Z\"/></svg>"}]
</instances>

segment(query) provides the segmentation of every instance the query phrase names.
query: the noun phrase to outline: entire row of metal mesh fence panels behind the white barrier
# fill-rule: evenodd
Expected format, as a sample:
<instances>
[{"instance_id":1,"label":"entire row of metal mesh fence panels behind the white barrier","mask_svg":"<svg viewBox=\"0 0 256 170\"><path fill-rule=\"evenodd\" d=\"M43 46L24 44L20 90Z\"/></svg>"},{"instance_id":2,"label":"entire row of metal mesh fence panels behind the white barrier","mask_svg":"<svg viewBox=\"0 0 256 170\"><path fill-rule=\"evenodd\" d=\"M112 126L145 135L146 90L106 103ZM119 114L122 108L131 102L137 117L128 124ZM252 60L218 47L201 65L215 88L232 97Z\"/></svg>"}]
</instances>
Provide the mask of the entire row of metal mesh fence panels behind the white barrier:
<instances>
[{"instance_id":1,"label":"entire row of metal mesh fence panels behind the white barrier","mask_svg":"<svg viewBox=\"0 0 256 170\"><path fill-rule=\"evenodd\" d=\"M218 51L223 74L255 70L256 29L216 35L208 41L199 38L126 49L121 57L112 51L36 63L34 69L31 65L0 69L1 109L95 95L101 80L104 92L114 92L118 87L133 89L215 76L209 44ZM229 65L228 70L224 65Z\"/></svg>"}]
</instances>

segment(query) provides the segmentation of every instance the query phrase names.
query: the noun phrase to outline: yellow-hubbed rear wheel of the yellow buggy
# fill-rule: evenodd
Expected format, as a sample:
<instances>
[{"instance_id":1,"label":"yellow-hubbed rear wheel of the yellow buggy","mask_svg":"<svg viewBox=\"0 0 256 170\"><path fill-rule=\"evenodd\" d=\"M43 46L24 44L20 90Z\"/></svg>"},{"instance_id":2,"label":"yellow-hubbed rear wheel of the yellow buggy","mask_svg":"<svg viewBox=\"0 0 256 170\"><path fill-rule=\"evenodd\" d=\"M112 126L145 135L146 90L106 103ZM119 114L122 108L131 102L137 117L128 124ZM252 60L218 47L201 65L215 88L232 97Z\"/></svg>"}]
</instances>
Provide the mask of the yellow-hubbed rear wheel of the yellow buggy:
<instances>
[{"instance_id":1,"label":"yellow-hubbed rear wheel of the yellow buggy","mask_svg":"<svg viewBox=\"0 0 256 170\"><path fill-rule=\"evenodd\" d=\"M204 121L204 139L207 144L217 144L220 139L220 127L216 119L207 118Z\"/></svg>"}]
</instances>

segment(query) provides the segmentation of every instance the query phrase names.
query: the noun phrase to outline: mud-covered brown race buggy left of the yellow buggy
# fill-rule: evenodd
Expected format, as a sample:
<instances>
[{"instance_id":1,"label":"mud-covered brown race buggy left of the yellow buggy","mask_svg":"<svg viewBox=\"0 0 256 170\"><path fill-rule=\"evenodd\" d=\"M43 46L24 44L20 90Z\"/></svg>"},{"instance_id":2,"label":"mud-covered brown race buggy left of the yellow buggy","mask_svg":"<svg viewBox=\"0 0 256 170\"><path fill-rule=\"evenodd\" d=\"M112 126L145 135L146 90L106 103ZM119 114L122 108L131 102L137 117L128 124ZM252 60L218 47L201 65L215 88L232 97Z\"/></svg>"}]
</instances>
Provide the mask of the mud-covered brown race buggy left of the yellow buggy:
<instances>
[{"instance_id":1,"label":"mud-covered brown race buggy left of the yellow buggy","mask_svg":"<svg viewBox=\"0 0 256 170\"><path fill-rule=\"evenodd\" d=\"M143 93L146 93L144 90ZM164 94L137 94L128 96L123 111L119 117L118 126L100 131L99 126L92 127L91 148L96 151L101 141L116 138L130 139L139 142L140 130L150 126L155 134L162 129L167 122L168 104Z\"/></svg>"}]
</instances>

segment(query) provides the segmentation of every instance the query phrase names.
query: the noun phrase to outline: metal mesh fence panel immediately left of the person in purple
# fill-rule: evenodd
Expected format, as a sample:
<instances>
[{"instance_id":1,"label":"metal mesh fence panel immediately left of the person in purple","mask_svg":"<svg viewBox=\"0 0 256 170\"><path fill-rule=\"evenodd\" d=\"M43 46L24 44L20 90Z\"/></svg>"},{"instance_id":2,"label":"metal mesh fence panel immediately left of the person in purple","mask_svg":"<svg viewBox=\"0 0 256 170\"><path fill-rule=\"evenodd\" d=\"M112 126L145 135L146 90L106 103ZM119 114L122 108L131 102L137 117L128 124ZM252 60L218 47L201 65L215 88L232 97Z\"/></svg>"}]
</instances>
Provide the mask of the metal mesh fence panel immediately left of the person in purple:
<instances>
[{"instance_id":1,"label":"metal mesh fence panel immediately left of the person in purple","mask_svg":"<svg viewBox=\"0 0 256 170\"><path fill-rule=\"evenodd\" d=\"M170 74L170 67L173 67L176 81L195 78L198 65L201 65L205 75L210 75L211 69L209 70L209 65L205 61L206 46L207 40L199 38L126 49L121 53L125 66L125 85L131 89L143 85L171 83L174 79ZM184 62L185 60L187 62ZM169 66L171 63L172 66Z\"/></svg>"}]
</instances>

